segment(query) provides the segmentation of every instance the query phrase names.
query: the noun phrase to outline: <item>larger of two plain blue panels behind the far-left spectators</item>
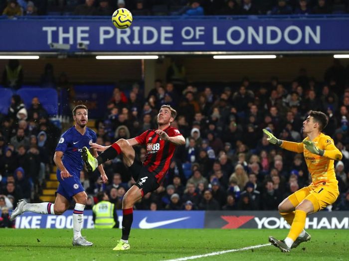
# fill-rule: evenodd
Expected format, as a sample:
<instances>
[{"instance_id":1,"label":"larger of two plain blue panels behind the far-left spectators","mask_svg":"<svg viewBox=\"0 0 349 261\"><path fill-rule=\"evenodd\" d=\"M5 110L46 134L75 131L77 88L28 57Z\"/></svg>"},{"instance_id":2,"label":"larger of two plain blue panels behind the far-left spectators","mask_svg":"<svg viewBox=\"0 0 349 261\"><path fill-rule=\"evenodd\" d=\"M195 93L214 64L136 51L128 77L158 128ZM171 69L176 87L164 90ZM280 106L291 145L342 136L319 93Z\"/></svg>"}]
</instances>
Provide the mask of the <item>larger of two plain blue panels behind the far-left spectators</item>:
<instances>
[{"instance_id":1,"label":"larger of two plain blue panels behind the far-left spectators","mask_svg":"<svg viewBox=\"0 0 349 261\"><path fill-rule=\"evenodd\" d=\"M49 116L55 116L58 113L58 96L55 89L22 88L17 91L17 94L22 98L26 108L30 108L31 100L37 97Z\"/></svg>"}]
</instances>

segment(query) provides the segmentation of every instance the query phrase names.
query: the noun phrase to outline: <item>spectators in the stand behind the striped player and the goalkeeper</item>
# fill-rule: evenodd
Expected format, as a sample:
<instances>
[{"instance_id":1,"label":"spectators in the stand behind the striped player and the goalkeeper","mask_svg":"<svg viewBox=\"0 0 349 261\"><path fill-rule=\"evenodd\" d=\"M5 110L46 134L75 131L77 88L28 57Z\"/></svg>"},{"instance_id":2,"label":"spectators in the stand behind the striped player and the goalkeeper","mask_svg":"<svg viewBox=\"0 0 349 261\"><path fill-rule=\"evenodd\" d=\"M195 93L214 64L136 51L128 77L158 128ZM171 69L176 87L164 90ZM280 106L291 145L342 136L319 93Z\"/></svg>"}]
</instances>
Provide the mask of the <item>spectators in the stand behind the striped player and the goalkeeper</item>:
<instances>
[{"instance_id":1,"label":"spectators in the stand behind the striped player and the goalkeeper","mask_svg":"<svg viewBox=\"0 0 349 261\"><path fill-rule=\"evenodd\" d=\"M174 70L173 66L178 67ZM185 71L174 61L168 70L169 81L156 81L146 100L137 85L128 97L120 88L114 89L105 119L96 123L98 143L109 145L156 128L160 106L170 104L178 112L172 125L186 137L186 145L177 148L164 184L136 208L276 210L285 197L309 185L311 179L303 155L269 144L262 129L300 142L307 113L321 110L329 117L324 132L334 138L344 155L335 162L341 196L334 209L348 210L348 70L336 60L326 71L324 83L301 69L291 83L281 83L277 77L266 84L251 83L245 77L241 84L217 91L183 82L174 85L171 79L179 83L178 72ZM185 75L181 76L184 80ZM145 148L137 151L143 159ZM134 180L119 158L104 167L112 184L103 187L97 180L89 187L90 193L106 190L120 208Z\"/></svg>"}]
</instances>

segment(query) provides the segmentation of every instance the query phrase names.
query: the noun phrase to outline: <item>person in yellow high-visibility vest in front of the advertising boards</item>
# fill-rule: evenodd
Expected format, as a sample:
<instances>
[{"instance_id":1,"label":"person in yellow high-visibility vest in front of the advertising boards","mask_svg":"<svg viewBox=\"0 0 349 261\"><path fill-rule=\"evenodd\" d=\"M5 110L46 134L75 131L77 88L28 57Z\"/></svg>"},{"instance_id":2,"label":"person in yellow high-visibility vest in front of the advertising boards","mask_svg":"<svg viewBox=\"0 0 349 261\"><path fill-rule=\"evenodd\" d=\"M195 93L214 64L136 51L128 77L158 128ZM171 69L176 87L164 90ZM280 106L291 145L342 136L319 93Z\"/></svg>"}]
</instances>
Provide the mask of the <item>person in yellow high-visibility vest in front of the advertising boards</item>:
<instances>
[{"instance_id":1,"label":"person in yellow high-visibility vest in front of the advertising boards","mask_svg":"<svg viewBox=\"0 0 349 261\"><path fill-rule=\"evenodd\" d=\"M99 202L92 208L95 228L118 228L115 205L108 201L108 195L102 191L98 192L97 199Z\"/></svg>"}]
</instances>

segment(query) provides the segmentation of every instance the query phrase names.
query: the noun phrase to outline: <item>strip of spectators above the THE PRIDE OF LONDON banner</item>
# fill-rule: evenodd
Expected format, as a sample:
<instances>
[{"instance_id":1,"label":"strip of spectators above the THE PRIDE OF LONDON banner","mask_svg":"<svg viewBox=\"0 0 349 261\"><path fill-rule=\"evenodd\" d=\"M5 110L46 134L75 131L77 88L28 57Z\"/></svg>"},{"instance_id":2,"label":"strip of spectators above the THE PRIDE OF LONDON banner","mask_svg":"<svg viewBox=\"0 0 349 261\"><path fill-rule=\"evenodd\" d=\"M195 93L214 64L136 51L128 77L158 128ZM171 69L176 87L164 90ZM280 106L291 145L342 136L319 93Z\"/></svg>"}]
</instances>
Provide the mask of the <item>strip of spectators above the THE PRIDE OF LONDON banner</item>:
<instances>
[{"instance_id":1,"label":"strip of spectators above the THE PRIDE OF LONDON banner","mask_svg":"<svg viewBox=\"0 0 349 261\"><path fill-rule=\"evenodd\" d=\"M348 0L0 0L0 13L19 15L111 15L125 7L133 15L330 14L349 12Z\"/></svg>"}]
</instances>

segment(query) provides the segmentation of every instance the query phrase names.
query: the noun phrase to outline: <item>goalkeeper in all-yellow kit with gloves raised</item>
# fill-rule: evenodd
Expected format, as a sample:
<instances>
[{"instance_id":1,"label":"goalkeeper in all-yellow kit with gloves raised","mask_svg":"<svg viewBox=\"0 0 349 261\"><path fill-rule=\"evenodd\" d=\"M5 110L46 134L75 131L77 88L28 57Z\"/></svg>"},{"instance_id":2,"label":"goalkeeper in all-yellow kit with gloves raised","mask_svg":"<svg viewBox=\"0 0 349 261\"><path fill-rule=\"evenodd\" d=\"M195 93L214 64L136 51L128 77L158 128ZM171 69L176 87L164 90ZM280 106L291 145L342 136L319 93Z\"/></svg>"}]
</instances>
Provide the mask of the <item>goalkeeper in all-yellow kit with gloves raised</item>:
<instances>
[{"instance_id":1,"label":"goalkeeper in all-yellow kit with gloves raised","mask_svg":"<svg viewBox=\"0 0 349 261\"><path fill-rule=\"evenodd\" d=\"M279 205L279 212L291 229L285 240L269 237L269 242L282 252L290 252L291 248L309 241L311 236L304 231L307 215L333 204L339 196L334 160L341 160L342 153L333 139L321 132L327 124L328 118L324 113L310 111L303 122L303 132L307 137L299 143L277 139L263 129L270 143L290 151L303 152L312 177L308 187L296 191Z\"/></svg>"}]
</instances>

